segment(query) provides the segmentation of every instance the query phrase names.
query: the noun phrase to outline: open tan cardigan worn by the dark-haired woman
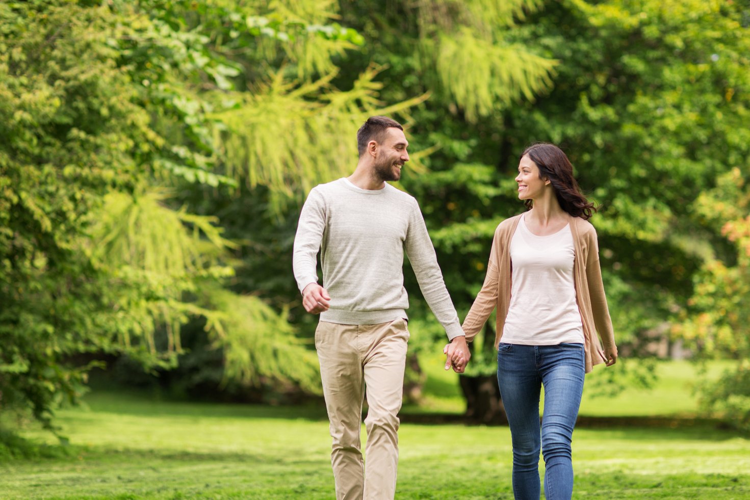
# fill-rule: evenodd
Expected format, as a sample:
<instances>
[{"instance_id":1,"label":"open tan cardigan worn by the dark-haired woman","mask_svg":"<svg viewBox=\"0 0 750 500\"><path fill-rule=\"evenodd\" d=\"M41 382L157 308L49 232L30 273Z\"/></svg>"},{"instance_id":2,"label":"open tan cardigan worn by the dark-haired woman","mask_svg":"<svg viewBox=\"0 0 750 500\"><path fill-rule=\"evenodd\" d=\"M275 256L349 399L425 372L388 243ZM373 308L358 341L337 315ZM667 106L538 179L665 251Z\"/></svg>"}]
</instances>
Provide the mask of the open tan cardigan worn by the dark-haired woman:
<instances>
[{"instance_id":1,"label":"open tan cardigan worn by the dark-haired woman","mask_svg":"<svg viewBox=\"0 0 750 500\"><path fill-rule=\"evenodd\" d=\"M615 346L614 334L607 309L607 298L604 296L604 284L601 283L596 230L591 223L580 217L568 217L575 247L575 295L583 323L586 373L589 373L595 364L606 361L596 332L601 335L601 342L607 348ZM484 285L463 321L462 328L466 333L466 340L470 341L475 337L490 317L490 313L497 307L495 347L500 343L505 316L508 316L508 307L511 303L510 244L518 220L520 215L503 220L495 230L490 262L487 264L487 277L484 278Z\"/></svg>"}]
</instances>

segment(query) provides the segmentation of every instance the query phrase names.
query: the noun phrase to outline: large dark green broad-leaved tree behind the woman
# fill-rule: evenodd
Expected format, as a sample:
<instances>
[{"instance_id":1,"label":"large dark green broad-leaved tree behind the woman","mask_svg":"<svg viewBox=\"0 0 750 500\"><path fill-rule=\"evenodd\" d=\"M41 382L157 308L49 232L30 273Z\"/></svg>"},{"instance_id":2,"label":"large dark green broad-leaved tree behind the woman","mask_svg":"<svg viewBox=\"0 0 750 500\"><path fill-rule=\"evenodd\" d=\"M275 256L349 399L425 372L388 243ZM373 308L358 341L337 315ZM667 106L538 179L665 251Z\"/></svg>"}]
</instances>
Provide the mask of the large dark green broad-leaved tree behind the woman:
<instances>
[{"instance_id":1,"label":"large dark green broad-leaved tree behind the woman","mask_svg":"<svg viewBox=\"0 0 750 500\"><path fill-rule=\"evenodd\" d=\"M592 222L618 343L625 354L646 355L637 350L643 337L676 320L703 260L726 252L715 229L693 216L691 203L719 172L747 157L747 7L700 1L537 7L506 37L556 61L551 87L510 105L496 100L479 120L435 91L437 100L412 113L410 128L414 148L437 148L424 162L431 175L407 169L403 184L422 202L463 316L481 287L496 224L520 211L517 155L538 140L562 145L581 186L602 208ZM395 26L398 35L380 31L374 46L383 50L374 53L392 68L384 75L387 95L409 95L431 79L415 78L402 20L408 16L392 13L377 26ZM473 385L493 377L492 325L490 319L484 340L476 341L485 348L475 347ZM607 375L631 371L627 357L622 361ZM483 406L496 407L490 400Z\"/></svg>"}]
</instances>

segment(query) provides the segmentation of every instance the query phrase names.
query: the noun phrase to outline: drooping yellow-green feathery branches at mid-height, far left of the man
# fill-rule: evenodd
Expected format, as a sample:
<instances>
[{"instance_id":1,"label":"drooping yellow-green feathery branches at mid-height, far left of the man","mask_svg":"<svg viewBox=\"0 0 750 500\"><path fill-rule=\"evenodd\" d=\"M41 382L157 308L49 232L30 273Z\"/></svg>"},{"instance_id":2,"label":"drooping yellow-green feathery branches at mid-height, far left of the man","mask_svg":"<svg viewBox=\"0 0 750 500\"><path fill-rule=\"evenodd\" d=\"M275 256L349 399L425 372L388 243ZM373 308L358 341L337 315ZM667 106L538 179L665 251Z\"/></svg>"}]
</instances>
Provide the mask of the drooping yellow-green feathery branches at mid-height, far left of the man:
<instances>
[{"instance_id":1,"label":"drooping yellow-green feathery branches at mid-height, far left of the man","mask_svg":"<svg viewBox=\"0 0 750 500\"><path fill-rule=\"evenodd\" d=\"M118 311L118 343L150 356L163 351L173 364L181 352L181 324L208 313L190 296L233 274L219 260L233 244L221 238L215 217L173 211L163 205L166 197L159 191L108 193L92 225L89 251L115 286L107 297ZM161 329L165 349L154 340Z\"/></svg>"}]
</instances>

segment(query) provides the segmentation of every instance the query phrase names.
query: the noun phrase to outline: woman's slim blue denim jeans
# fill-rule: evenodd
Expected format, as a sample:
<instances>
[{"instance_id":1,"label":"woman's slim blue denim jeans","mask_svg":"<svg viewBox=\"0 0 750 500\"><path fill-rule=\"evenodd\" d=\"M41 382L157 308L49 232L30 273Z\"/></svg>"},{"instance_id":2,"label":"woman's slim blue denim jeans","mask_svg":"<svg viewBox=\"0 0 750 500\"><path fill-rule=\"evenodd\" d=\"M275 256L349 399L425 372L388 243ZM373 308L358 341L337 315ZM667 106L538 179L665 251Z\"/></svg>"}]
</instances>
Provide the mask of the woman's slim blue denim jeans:
<instances>
[{"instance_id":1,"label":"woman's slim blue denim jeans","mask_svg":"<svg viewBox=\"0 0 750 500\"><path fill-rule=\"evenodd\" d=\"M546 465L547 500L569 500L573 495L570 443L585 371L583 344L499 344L497 382L511 428L516 500L539 499L540 448ZM541 385L544 385L544 415L540 430Z\"/></svg>"}]
</instances>

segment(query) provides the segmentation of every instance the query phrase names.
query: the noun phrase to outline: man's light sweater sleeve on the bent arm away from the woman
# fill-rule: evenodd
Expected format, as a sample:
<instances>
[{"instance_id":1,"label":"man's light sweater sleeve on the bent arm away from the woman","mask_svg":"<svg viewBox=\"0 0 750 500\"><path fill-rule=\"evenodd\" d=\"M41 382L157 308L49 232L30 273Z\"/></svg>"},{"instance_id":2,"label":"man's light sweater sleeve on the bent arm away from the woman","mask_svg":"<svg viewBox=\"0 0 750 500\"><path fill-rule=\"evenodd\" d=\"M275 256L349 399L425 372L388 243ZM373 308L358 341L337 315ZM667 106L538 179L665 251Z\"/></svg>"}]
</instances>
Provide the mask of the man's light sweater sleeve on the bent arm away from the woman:
<instances>
[{"instance_id":1,"label":"man's light sweater sleeve on the bent arm away from the woman","mask_svg":"<svg viewBox=\"0 0 750 500\"><path fill-rule=\"evenodd\" d=\"M294 237L292 267L299 292L310 283L317 283L317 254L326 229L326 204L323 196L313 188L302 213Z\"/></svg>"}]
</instances>

